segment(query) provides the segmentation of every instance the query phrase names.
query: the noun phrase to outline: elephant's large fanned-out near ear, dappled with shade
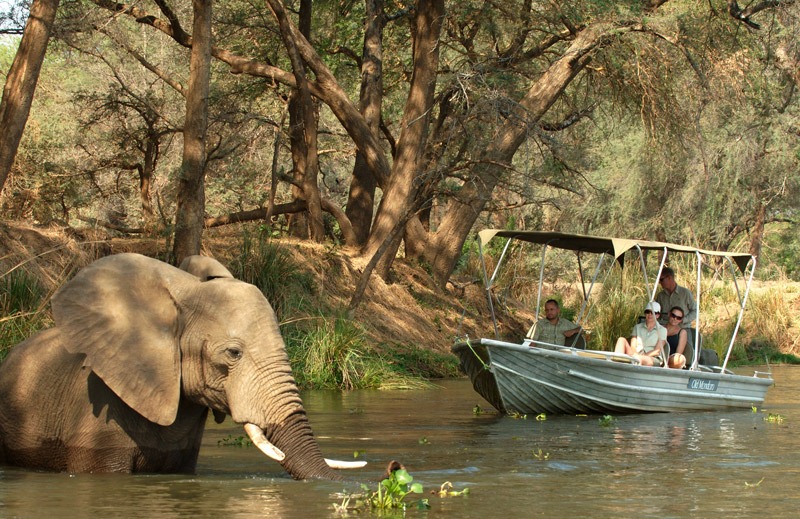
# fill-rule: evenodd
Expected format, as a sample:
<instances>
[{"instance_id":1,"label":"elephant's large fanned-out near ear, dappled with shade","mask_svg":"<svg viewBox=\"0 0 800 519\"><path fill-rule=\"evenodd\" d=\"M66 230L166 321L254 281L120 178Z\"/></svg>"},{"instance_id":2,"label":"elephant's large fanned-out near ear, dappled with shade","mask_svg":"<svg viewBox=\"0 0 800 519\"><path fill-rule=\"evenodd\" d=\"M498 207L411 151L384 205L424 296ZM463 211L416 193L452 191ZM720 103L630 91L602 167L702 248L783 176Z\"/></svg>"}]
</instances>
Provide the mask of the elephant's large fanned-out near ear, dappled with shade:
<instances>
[{"instance_id":1,"label":"elephant's large fanned-out near ear, dappled with shade","mask_svg":"<svg viewBox=\"0 0 800 519\"><path fill-rule=\"evenodd\" d=\"M81 270L53 297L53 317L70 353L126 404L159 425L175 421L181 394L178 292L191 274L139 254Z\"/></svg>"}]
</instances>

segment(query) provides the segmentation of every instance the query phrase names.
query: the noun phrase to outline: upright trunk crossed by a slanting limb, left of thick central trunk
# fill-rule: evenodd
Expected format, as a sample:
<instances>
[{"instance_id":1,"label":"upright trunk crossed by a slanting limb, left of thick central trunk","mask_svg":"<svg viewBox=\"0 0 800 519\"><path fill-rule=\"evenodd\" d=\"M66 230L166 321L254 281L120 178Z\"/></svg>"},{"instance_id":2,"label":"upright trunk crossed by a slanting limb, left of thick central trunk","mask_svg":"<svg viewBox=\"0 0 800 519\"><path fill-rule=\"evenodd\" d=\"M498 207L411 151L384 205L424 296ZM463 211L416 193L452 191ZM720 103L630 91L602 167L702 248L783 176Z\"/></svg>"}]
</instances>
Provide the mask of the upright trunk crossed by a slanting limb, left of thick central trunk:
<instances>
[{"instance_id":1,"label":"upright trunk crossed by a slanting limb, left of thick central trunk","mask_svg":"<svg viewBox=\"0 0 800 519\"><path fill-rule=\"evenodd\" d=\"M367 126L376 135L380 131L383 100L383 0L366 0L364 23L364 49L361 61L360 111ZM350 193L345 214L349 218L356 242L348 245L362 246L369 238L375 205L375 188L378 180L359 151L350 181Z\"/></svg>"}]
</instances>

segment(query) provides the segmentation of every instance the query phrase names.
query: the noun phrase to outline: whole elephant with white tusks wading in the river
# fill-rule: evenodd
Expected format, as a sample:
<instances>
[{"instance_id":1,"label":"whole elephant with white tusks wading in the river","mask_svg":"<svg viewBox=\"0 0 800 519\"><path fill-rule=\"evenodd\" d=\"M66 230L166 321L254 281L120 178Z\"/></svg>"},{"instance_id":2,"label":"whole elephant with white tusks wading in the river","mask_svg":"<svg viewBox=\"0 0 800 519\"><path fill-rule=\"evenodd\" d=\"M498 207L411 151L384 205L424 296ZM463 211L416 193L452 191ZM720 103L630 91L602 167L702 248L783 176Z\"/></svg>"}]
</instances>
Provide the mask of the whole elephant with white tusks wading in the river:
<instances>
[{"instance_id":1,"label":"whole elephant with white tusks wading in the river","mask_svg":"<svg viewBox=\"0 0 800 519\"><path fill-rule=\"evenodd\" d=\"M101 258L53 296L55 326L0 365L0 463L66 472L193 473L212 411L295 479L344 479L323 457L275 312L216 260Z\"/></svg>"}]
</instances>

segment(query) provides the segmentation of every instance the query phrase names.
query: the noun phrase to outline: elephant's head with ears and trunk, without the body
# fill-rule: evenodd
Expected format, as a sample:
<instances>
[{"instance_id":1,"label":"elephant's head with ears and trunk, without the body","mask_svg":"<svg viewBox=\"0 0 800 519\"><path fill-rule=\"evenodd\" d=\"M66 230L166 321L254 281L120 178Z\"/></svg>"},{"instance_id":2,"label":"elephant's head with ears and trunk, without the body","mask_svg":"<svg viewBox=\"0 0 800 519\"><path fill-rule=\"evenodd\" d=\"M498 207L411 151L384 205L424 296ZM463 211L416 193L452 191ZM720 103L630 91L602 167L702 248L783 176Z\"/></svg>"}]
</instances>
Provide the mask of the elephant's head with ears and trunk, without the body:
<instances>
[{"instance_id":1,"label":"elephant's head with ears and trunk, without the body","mask_svg":"<svg viewBox=\"0 0 800 519\"><path fill-rule=\"evenodd\" d=\"M314 439L261 291L209 258L182 266L119 254L80 271L53 298L63 348L83 356L84 369L141 427L156 424L166 436L184 414L210 408L218 420L230 415L242 424L292 477L339 479ZM132 416L116 420L135 437ZM187 434L202 435L199 427Z\"/></svg>"}]
</instances>

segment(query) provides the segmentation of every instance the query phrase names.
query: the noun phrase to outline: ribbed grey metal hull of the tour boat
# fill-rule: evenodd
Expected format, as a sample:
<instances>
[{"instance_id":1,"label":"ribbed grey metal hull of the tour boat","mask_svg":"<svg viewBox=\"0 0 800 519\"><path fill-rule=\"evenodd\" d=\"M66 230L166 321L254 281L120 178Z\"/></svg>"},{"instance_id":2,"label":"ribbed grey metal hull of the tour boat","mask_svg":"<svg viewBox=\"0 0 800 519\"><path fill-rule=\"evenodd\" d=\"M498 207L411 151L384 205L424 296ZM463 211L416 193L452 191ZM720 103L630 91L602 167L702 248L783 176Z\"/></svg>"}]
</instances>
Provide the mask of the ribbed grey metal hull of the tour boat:
<instances>
[{"instance_id":1,"label":"ribbed grey metal hull of the tour boat","mask_svg":"<svg viewBox=\"0 0 800 519\"><path fill-rule=\"evenodd\" d=\"M484 350L485 349L485 350ZM750 408L764 402L771 378L653 368L619 362L605 352L529 347L492 339L453 351L473 386L500 411L519 414L622 414ZM483 352L483 363L468 356ZM471 372L470 372L471 371ZM482 385L476 385L476 377ZM488 392L487 392L488 391ZM496 392L496 396L495 396ZM488 396L488 398L487 398Z\"/></svg>"}]
</instances>

